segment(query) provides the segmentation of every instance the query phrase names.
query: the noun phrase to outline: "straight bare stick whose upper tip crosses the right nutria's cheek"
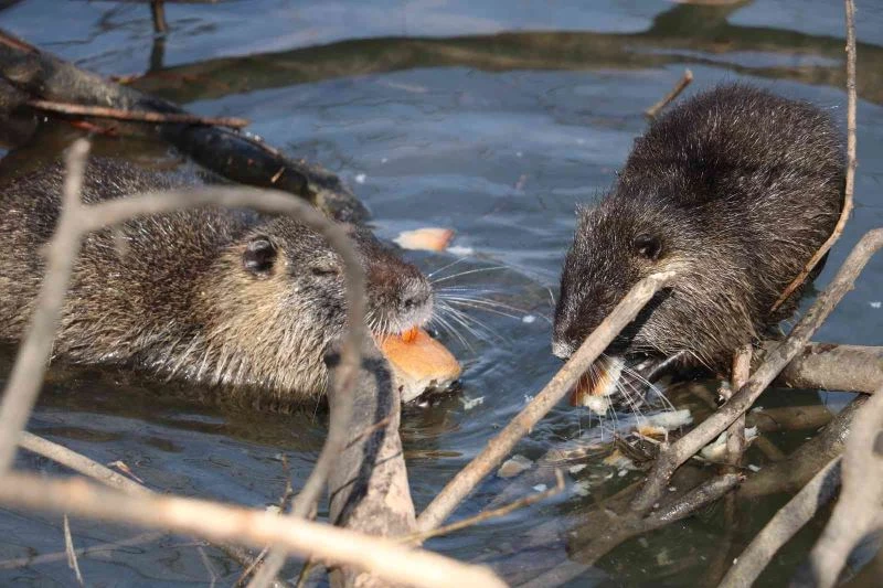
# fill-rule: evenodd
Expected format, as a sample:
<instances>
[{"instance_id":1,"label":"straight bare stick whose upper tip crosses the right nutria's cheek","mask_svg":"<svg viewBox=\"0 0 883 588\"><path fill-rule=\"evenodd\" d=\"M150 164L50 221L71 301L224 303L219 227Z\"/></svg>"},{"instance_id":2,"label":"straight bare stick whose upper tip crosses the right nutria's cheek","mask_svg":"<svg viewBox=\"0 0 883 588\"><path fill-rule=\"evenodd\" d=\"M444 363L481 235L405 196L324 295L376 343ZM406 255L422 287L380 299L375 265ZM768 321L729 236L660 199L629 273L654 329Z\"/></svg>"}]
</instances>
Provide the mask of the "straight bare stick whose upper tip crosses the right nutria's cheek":
<instances>
[{"instance_id":1,"label":"straight bare stick whose upper tip crosses the right nutria's cheek","mask_svg":"<svg viewBox=\"0 0 883 588\"><path fill-rule=\"evenodd\" d=\"M610 314L579 345L552 381L518 414L481 453L460 470L442 489L433 502L417 517L417 528L426 532L437 527L469 492L509 455L518 441L528 435L573 387L598 359L607 345L640 312L660 289L674 278L674 272L653 274L642 279L626 295Z\"/></svg>"}]
</instances>

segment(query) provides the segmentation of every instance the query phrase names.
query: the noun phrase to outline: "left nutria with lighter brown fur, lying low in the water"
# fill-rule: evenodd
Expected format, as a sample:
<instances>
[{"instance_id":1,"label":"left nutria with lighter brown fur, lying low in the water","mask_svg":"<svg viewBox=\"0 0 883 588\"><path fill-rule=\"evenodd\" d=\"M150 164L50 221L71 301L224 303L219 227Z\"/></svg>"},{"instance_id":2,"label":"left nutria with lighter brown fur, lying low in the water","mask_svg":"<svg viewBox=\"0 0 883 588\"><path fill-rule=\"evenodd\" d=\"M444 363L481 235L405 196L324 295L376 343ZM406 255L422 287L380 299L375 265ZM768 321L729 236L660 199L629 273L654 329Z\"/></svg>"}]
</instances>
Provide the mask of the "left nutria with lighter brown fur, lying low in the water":
<instances>
[{"instance_id":1,"label":"left nutria with lighter brown fur, lying low in the water","mask_svg":"<svg viewBox=\"0 0 883 588\"><path fill-rule=\"evenodd\" d=\"M30 320L62 181L54 165L0 189L0 340L21 338ZM175 183L95 160L83 201ZM351 236L368 275L372 331L429 320L433 292L419 270L368 231ZM54 356L146 367L274 404L302 400L325 391L323 355L343 329L341 264L319 234L288 217L203 207L134 220L85 239Z\"/></svg>"}]
</instances>

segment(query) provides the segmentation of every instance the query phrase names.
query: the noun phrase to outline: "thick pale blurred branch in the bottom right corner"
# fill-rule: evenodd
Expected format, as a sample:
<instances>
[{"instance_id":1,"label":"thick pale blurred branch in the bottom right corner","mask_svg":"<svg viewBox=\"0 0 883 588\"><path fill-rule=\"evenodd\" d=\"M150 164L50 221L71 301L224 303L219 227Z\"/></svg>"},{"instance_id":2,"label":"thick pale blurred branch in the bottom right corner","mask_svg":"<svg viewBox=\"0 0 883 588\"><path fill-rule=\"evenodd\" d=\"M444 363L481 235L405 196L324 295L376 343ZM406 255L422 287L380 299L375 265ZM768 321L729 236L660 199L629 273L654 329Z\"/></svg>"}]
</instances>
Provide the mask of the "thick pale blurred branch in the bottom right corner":
<instances>
[{"instance_id":1,"label":"thick pale blurred branch in the bottom right corner","mask_svg":"<svg viewBox=\"0 0 883 588\"><path fill-rule=\"evenodd\" d=\"M841 462L843 488L825 531L810 553L811 584L828 588L855 545L877 531L883 515L883 387L852 424Z\"/></svg>"}]
</instances>

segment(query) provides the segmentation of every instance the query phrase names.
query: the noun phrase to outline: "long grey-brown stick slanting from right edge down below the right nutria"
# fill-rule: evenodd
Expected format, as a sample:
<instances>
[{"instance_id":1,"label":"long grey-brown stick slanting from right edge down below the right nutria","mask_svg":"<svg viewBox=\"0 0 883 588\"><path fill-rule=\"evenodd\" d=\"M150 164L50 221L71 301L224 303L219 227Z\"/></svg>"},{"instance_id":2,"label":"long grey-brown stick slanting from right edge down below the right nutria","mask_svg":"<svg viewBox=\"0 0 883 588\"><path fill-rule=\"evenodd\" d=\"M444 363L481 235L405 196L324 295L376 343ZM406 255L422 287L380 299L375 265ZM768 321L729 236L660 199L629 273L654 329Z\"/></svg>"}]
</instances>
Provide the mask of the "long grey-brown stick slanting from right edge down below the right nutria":
<instances>
[{"instance_id":1,"label":"long grey-brown stick slanting from right edge down below the right nutria","mask_svg":"<svg viewBox=\"0 0 883 588\"><path fill-rule=\"evenodd\" d=\"M652 509L666 491L674 470L751 408L760 393L804 349L816 329L821 325L843 296L852 289L855 278L859 277L871 256L881 247L883 247L883 228L865 233L828 288L800 319L788 338L769 353L767 360L757 368L752 378L713 415L660 452L647 478L647 483L631 503L632 510L646 513Z\"/></svg>"}]
</instances>

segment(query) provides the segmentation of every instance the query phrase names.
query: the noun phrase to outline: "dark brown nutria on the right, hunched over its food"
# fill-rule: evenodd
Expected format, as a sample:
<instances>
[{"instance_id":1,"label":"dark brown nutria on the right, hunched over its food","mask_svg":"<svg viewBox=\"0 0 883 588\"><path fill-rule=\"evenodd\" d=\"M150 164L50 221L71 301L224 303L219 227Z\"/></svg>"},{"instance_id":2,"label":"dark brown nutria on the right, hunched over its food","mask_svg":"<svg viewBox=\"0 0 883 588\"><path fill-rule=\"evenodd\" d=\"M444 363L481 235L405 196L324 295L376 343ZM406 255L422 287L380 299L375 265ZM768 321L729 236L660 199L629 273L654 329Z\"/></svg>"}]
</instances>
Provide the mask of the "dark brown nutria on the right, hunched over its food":
<instances>
[{"instance_id":1,"label":"dark brown nutria on the right, hunched over its food","mask_svg":"<svg viewBox=\"0 0 883 588\"><path fill-rule=\"evenodd\" d=\"M800 291L770 313L833 231L844 177L840 135L810 104L727 85L671 109L578 211L553 353L570 357L637 281L671 269L677 285L606 351L613 379L623 360L672 356L727 373L738 346L796 309Z\"/></svg>"}]
</instances>

